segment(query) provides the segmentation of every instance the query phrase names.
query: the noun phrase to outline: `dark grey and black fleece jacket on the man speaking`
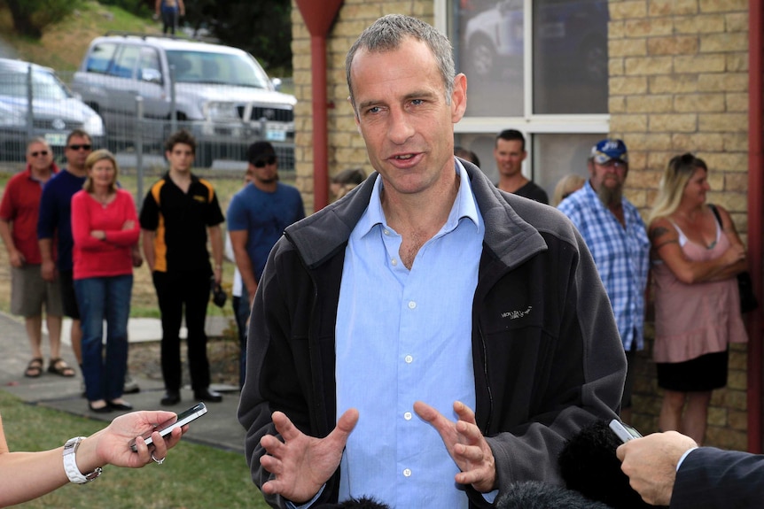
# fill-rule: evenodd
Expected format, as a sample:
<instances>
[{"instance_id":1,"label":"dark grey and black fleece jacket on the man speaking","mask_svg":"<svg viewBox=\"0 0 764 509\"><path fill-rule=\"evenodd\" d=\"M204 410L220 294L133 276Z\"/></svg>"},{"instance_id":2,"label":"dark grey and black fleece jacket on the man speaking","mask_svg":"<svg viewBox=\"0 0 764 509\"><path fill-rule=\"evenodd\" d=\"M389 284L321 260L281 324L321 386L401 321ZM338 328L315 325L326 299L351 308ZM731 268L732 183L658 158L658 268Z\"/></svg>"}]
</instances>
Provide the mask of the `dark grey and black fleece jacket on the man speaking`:
<instances>
[{"instance_id":1,"label":"dark grey and black fleece jacket on the man speaking","mask_svg":"<svg viewBox=\"0 0 764 509\"><path fill-rule=\"evenodd\" d=\"M620 405L626 359L610 302L581 235L562 213L504 193L477 166L462 163L486 224L472 299L476 419L495 456L500 493L512 482L560 483L557 454L565 440L593 420L611 419ZM271 413L286 413L310 436L335 426L334 331L345 247L377 178L286 228L270 253L254 299L238 408L258 487L270 478L259 459L261 436L276 434ZM336 501L338 488L339 469L319 502ZM489 506L464 489L471 507ZM266 499L285 507L282 497Z\"/></svg>"}]
</instances>

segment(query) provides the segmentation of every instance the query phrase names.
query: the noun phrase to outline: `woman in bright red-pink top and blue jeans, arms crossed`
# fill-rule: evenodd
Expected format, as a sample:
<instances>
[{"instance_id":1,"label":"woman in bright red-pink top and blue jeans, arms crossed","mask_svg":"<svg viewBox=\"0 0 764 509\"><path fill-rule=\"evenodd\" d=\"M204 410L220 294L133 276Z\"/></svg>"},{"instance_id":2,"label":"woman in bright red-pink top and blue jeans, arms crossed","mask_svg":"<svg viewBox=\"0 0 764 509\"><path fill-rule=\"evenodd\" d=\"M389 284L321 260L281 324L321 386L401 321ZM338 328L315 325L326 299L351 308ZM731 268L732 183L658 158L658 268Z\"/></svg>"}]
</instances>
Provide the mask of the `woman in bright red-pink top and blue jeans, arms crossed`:
<instances>
[{"instance_id":1,"label":"woman in bright red-pink top and blue jeans, arms crossed","mask_svg":"<svg viewBox=\"0 0 764 509\"><path fill-rule=\"evenodd\" d=\"M136 205L129 192L117 188L119 169L111 152L94 151L85 167L88 178L72 197L74 291L82 320L85 392L93 412L130 410L122 388L133 288L131 248L140 228Z\"/></svg>"}]
</instances>

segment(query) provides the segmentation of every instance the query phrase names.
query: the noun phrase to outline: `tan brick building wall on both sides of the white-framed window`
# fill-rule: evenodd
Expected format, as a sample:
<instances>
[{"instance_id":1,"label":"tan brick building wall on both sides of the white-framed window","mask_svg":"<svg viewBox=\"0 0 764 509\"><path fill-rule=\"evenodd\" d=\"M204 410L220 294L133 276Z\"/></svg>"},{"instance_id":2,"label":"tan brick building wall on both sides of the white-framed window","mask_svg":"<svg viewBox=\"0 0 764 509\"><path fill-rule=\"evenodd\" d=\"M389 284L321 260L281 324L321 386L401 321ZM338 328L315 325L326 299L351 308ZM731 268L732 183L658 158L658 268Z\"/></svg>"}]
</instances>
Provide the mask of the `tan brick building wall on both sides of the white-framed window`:
<instances>
[{"instance_id":1,"label":"tan brick building wall on both sides of the white-framed window","mask_svg":"<svg viewBox=\"0 0 764 509\"><path fill-rule=\"evenodd\" d=\"M433 23L433 1L346 0L326 42L329 173L371 168L347 103L345 55L374 19L410 14ZM660 174L672 156L690 151L710 168L709 201L732 213L745 234L748 127L747 0L610 0L612 135L630 151L628 197L647 212ZM292 2L292 51L298 106L297 185L306 210L314 208L310 35ZM744 235L745 241L745 235ZM651 318L649 318L649 321ZM661 393L648 347L637 358L634 423L658 431ZM746 350L733 345L729 385L714 391L707 443L745 450Z\"/></svg>"}]
</instances>

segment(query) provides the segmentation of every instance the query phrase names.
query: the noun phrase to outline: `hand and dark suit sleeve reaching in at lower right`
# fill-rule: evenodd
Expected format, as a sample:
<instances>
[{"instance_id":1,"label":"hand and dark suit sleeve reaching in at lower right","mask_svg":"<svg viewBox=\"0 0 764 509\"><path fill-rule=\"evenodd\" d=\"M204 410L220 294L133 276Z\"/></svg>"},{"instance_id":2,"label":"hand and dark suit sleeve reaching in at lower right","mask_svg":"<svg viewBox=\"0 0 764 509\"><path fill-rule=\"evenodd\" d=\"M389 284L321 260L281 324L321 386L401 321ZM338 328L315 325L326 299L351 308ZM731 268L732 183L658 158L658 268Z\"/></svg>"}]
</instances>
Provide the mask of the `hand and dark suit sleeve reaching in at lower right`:
<instances>
[{"instance_id":1,"label":"hand and dark suit sleeve reaching in at lower right","mask_svg":"<svg viewBox=\"0 0 764 509\"><path fill-rule=\"evenodd\" d=\"M616 454L632 488L649 504L670 509L761 504L764 455L698 447L676 431L630 440Z\"/></svg>"}]
</instances>

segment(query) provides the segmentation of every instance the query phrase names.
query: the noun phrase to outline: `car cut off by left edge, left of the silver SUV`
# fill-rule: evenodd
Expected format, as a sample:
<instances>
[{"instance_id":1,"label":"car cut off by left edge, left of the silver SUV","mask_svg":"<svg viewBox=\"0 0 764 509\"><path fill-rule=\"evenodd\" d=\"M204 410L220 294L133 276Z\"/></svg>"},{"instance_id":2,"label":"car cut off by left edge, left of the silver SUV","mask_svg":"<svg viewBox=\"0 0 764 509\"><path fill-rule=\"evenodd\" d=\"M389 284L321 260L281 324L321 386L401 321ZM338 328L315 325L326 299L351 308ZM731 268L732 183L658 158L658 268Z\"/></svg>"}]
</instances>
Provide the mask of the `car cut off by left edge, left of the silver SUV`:
<instances>
[{"instance_id":1,"label":"car cut off by left edge, left of the silver SUV","mask_svg":"<svg viewBox=\"0 0 764 509\"><path fill-rule=\"evenodd\" d=\"M33 104L29 114L29 102ZM48 67L0 58L0 158L23 161L27 142L43 137L58 155L66 135L84 129L101 143L104 123Z\"/></svg>"}]
</instances>

